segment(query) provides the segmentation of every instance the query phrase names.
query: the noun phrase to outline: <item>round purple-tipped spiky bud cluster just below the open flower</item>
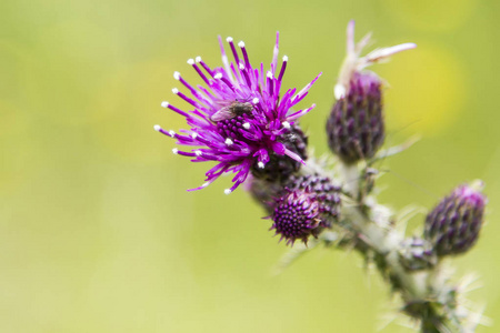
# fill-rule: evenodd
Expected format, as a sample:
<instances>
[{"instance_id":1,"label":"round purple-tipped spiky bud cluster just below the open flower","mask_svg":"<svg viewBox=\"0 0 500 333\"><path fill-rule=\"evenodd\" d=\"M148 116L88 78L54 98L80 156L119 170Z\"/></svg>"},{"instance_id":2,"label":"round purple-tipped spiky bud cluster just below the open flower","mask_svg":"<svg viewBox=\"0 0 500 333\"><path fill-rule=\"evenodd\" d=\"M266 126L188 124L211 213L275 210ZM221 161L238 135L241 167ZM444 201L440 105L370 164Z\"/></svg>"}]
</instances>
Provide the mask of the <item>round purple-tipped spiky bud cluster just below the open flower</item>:
<instances>
[{"instance_id":1,"label":"round purple-tipped spiky bud cluster just below the open flower","mask_svg":"<svg viewBox=\"0 0 500 333\"><path fill-rule=\"evenodd\" d=\"M293 245L297 240L307 244L338 219L339 188L330 179L319 175L292 176L280 196L274 200L271 230Z\"/></svg>"}]
</instances>

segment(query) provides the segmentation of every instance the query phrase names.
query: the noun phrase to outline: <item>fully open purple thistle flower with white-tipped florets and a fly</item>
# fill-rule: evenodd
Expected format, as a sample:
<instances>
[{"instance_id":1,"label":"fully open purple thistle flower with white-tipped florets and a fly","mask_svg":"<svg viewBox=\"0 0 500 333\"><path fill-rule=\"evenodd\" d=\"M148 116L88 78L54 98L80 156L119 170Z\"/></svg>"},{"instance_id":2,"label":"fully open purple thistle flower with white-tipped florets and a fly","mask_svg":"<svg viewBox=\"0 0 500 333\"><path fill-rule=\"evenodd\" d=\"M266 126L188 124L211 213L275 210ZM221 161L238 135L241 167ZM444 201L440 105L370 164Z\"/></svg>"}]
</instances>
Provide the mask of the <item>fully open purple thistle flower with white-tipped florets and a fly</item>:
<instances>
[{"instance_id":1,"label":"fully open purple thistle flower with white-tipped florets and a fly","mask_svg":"<svg viewBox=\"0 0 500 333\"><path fill-rule=\"evenodd\" d=\"M179 72L173 74L192 97L178 89L173 89L172 92L191 104L193 110L183 111L168 102L163 102L162 107L184 117L190 129L181 130L180 133L166 131L159 125L154 129L176 139L179 145L193 147L187 151L174 148L173 153L192 158L192 162L217 162L207 171L206 183L192 190L206 188L221 174L233 172L236 173L233 184L224 191L229 194L250 172L259 176L258 172L253 171L279 167L283 159L293 163L304 163L304 150L301 150L304 140L297 139L301 131L296 122L311 111L314 104L294 112L291 108L308 94L321 73L302 90L297 92L297 89L289 89L281 94L288 58L283 57L278 70L278 40L277 33L268 71L264 70L263 63L257 68L250 64L242 41L238 43L241 50L239 54L232 38L227 39L234 58L234 61L229 62L222 39L219 37L223 67L212 69L200 57L188 60L206 87L196 88ZM291 169L297 169L297 165Z\"/></svg>"}]
</instances>

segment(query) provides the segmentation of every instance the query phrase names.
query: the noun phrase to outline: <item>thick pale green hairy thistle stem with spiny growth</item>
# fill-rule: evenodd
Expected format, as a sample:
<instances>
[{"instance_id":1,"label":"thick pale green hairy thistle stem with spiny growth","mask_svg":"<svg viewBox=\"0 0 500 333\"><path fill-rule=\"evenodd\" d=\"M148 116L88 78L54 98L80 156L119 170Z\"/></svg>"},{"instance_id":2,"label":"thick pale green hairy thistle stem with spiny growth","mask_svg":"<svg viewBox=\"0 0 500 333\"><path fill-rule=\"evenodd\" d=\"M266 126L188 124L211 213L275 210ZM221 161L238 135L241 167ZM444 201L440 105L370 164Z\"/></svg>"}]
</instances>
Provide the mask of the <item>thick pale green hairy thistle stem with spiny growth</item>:
<instances>
[{"instance_id":1,"label":"thick pale green hairy thistle stem with spiny growth","mask_svg":"<svg viewBox=\"0 0 500 333\"><path fill-rule=\"evenodd\" d=\"M402 311L420 322L422 333L473 332L477 319L459 306L459 291L450 282L450 272L441 264L424 270L409 270L401 262L404 234L396 229L393 216L373 198L370 203L361 195L362 171L358 165L340 169L343 191L350 204L342 208L343 223L354 233L356 249L366 259L372 259L391 290L400 294Z\"/></svg>"}]
</instances>

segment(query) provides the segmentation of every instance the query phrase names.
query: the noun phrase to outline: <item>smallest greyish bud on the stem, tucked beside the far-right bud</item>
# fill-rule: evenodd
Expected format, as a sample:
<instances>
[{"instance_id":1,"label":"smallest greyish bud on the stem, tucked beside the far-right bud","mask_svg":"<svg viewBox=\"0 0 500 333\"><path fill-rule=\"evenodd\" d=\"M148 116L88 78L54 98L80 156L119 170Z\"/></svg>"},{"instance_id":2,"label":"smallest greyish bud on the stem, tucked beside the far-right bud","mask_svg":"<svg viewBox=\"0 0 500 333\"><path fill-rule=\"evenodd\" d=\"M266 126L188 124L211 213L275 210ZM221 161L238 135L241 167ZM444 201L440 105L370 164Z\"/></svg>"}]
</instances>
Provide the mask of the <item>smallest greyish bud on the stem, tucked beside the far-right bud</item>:
<instances>
[{"instance_id":1,"label":"smallest greyish bud on the stem, tucked beside the far-right bud","mask_svg":"<svg viewBox=\"0 0 500 333\"><path fill-rule=\"evenodd\" d=\"M437 263L432 244L420 238L406 239L401 244L399 258L402 265L409 271L426 270Z\"/></svg>"}]
</instances>

